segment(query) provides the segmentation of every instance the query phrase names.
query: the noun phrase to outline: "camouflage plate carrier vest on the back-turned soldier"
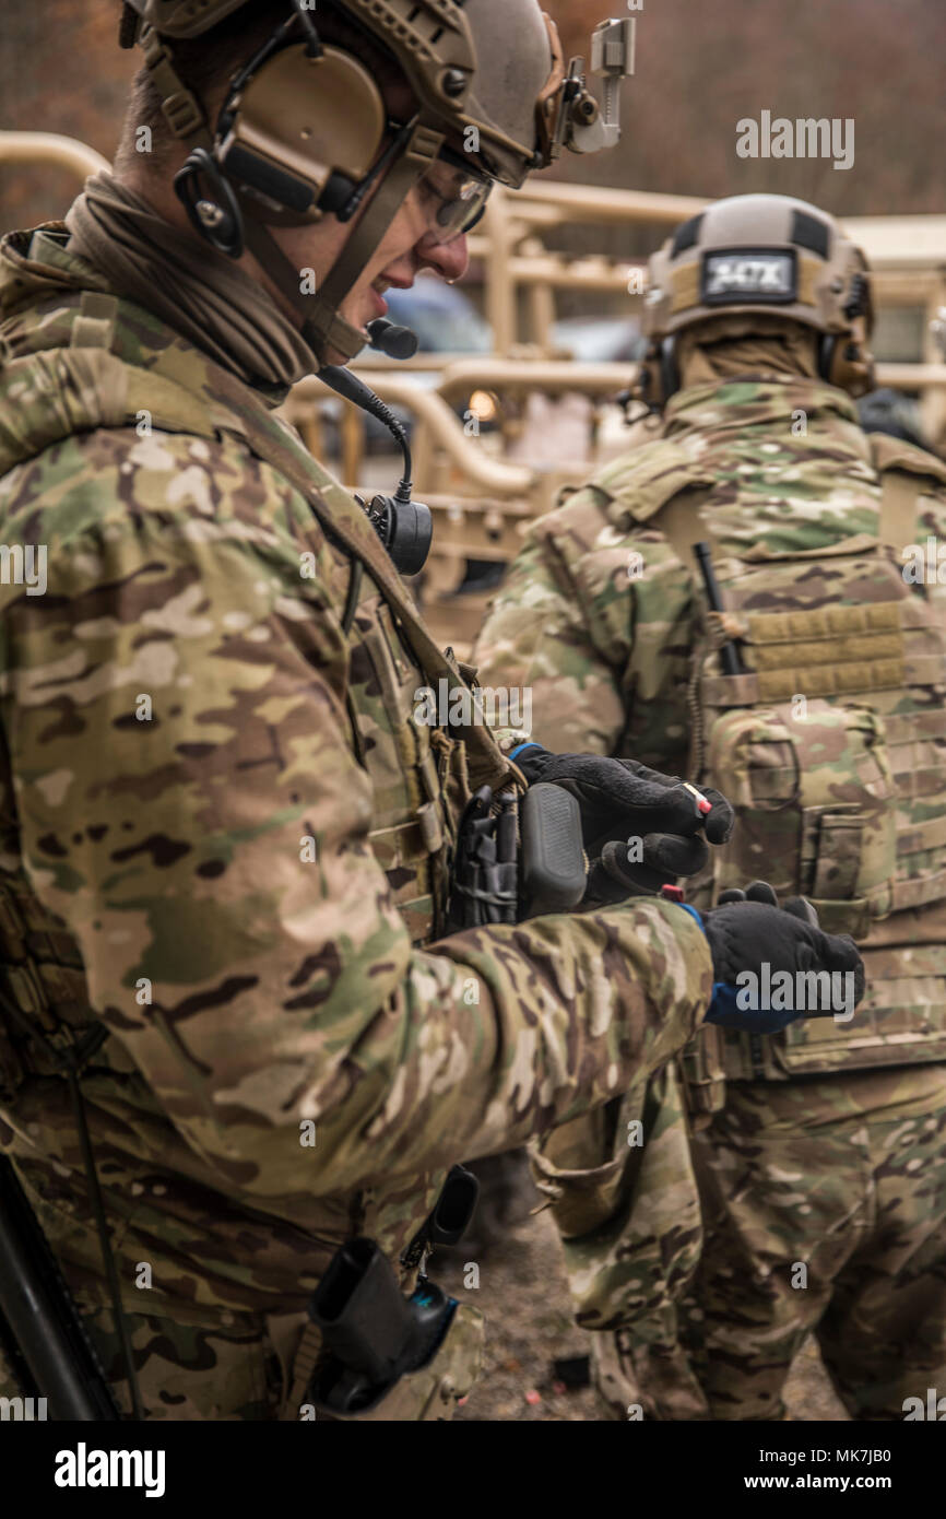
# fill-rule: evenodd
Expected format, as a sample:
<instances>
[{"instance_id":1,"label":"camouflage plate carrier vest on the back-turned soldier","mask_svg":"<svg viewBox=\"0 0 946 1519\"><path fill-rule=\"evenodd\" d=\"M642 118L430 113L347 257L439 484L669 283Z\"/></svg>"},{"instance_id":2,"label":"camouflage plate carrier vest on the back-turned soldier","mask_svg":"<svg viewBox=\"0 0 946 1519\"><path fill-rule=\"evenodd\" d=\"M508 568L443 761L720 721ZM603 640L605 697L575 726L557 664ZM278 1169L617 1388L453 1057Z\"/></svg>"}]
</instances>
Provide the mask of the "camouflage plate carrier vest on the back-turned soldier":
<instances>
[{"instance_id":1,"label":"camouflage plate carrier vest on the back-turned soldier","mask_svg":"<svg viewBox=\"0 0 946 1519\"><path fill-rule=\"evenodd\" d=\"M717 548L723 611L694 585L691 732L695 778L730 796L739 826L712 852L698 905L765 875L812 899L823 930L853 934L867 963L867 995L849 1022L800 1021L767 1039L729 1030L721 1062L688 1051L702 1113L721 1106L724 1080L946 1059L946 606L902 573L905 545L928 530L920 512L941 523L946 471L893 439L870 439L870 454L876 530L867 492L856 518L838 498L847 536L812 533L815 548L802 547L811 539L788 500L793 533L753 535L752 485L743 494L736 480L733 503L692 462L656 510L641 491L632 512L664 533L694 582L694 544ZM653 497L671 466L662 459ZM718 527L717 501L727 509ZM834 498L825 506L829 526ZM739 674L720 673L729 639Z\"/></svg>"}]
</instances>

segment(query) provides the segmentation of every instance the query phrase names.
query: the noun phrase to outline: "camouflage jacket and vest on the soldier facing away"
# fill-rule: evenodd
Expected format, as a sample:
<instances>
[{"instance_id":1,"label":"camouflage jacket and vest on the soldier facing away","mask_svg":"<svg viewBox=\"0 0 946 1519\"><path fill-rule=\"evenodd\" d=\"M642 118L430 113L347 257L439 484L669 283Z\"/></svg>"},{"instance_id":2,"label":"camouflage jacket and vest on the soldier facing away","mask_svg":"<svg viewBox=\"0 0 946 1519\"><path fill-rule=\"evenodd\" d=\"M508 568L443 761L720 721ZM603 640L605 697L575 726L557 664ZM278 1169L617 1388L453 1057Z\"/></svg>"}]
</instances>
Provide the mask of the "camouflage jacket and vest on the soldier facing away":
<instances>
[{"instance_id":1,"label":"camouflage jacket and vest on the soldier facing away","mask_svg":"<svg viewBox=\"0 0 946 1519\"><path fill-rule=\"evenodd\" d=\"M721 617L697 589L698 539ZM765 876L867 945L856 1018L771 1041L727 1031L732 1077L946 1059L937 544L946 557L946 466L867 439L843 392L691 387L656 437L533 524L474 647L480 679L531 688L539 741L633 755L730 796L739 825L698 904ZM732 636L738 676L720 667Z\"/></svg>"}]
</instances>

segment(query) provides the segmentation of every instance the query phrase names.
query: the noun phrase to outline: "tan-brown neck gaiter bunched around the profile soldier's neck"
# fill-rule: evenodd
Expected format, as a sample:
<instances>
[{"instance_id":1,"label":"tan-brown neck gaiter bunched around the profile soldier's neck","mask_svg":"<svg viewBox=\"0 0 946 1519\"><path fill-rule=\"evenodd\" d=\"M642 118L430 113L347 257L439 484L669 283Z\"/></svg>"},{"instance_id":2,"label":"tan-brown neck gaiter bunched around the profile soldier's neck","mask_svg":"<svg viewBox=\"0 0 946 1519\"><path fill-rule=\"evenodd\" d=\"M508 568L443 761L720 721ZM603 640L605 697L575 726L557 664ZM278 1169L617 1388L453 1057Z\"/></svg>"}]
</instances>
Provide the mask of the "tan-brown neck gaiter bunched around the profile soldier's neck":
<instances>
[{"instance_id":1,"label":"tan-brown neck gaiter bunched around the profile soldier's neck","mask_svg":"<svg viewBox=\"0 0 946 1519\"><path fill-rule=\"evenodd\" d=\"M222 254L166 222L111 175L65 217L70 251L246 384L289 386L319 363L272 296Z\"/></svg>"}]
</instances>

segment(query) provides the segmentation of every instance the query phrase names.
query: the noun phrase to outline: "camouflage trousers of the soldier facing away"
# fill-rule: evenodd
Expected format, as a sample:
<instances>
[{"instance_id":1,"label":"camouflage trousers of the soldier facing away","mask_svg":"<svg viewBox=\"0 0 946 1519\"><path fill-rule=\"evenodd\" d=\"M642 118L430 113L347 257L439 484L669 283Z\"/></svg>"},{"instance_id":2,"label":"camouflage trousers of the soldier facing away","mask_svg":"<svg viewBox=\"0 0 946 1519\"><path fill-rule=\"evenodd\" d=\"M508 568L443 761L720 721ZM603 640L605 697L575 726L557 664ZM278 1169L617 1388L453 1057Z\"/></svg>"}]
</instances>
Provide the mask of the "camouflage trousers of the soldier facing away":
<instances>
[{"instance_id":1,"label":"camouflage trousers of the soldier facing away","mask_svg":"<svg viewBox=\"0 0 946 1519\"><path fill-rule=\"evenodd\" d=\"M944 1092L943 1066L730 1083L692 1142L706 1240L680 1344L647 1318L594 1337L612 1414L784 1419L809 1332L852 1419L946 1393Z\"/></svg>"}]
</instances>

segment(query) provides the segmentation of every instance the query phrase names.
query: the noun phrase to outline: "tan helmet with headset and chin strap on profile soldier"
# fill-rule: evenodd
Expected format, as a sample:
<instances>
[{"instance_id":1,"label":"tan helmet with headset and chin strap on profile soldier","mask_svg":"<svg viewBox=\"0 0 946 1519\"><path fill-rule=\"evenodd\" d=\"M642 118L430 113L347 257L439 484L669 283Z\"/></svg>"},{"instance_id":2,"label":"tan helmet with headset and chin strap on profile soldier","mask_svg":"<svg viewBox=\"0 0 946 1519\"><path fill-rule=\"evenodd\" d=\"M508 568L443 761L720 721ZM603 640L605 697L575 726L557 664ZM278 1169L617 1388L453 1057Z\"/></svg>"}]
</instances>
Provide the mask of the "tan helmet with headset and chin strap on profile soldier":
<instances>
[{"instance_id":1,"label":"tan helmet with headset and chin strap on profile soldier","mask_svg":"<svg viewBox=\"0 0 946 1519\"><path fill-rule=\"evenodd\" d=\"M211 125L175 67L175 43L203 36L246 3L126 0L120 39L143 49L164 115L191 149L175 178L191 223L220 252L254 252L304 317L322 363L328 348L351 358L363 346L364 333L339 307L436 159L463 173L456 199L437 211L446 242L469 231L493 182L515 188L562 147L594 152L616 141L615 90L630 73L633 23L603 23L594 35L592 68L606 76L601 111L583 61L565 70L538 0L320 0L317 9L273 0L272 35L234 76ZM389 118L378 82L354 44L331 41L325 14L390 58L415 97L410 120ZM299 270L267 226L348 222L369 188L320 289L301 293Z\"/></svg>"}]
</instances>

